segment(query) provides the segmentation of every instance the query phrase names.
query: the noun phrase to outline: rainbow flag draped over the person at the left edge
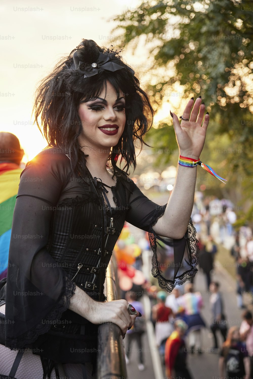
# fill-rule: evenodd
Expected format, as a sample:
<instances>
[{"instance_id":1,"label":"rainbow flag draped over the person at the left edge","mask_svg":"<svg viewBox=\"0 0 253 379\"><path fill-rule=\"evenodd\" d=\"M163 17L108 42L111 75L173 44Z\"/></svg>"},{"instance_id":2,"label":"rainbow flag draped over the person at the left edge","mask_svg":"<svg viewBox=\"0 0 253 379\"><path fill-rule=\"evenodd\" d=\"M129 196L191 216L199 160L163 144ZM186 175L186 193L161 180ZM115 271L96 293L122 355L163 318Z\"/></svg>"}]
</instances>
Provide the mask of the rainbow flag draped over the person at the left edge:
<instances>
[{"instance_id":1,"label":"rainbow flag draped over the person at the left edge","mask_svg":"<svg viewBox=\"0 0 253 379\"><path fill-rule=\"evenodd\" d=\"M13 211L22 171L15 163L0 163L0 280L7 275Z\"/></svg>"}]
</instances>

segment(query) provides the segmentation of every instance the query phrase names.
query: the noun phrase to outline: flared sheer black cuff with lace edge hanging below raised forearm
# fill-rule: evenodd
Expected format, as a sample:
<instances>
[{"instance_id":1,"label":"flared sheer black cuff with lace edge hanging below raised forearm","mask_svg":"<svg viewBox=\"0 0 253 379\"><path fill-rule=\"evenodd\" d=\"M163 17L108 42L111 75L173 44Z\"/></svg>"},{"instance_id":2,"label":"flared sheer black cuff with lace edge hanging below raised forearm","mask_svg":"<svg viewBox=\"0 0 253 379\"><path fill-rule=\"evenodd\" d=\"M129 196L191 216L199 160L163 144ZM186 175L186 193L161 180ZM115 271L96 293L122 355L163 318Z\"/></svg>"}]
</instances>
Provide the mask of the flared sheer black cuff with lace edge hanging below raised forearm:
<instances>
[{"instance_id":1,"label":"flared sheer black cuff with lace edge hanging below raised forearm","mask_svg":"<svg viewBox=\"0 0 253 379\"><path fill-rule=\"evenodd\" d=\"M158 279L160 288L171 292L176 285L191 280L198 271L199 246L196 229L190 218L187 232L181 239L157 235L152 226L164 214L167 204L160 206L154 214L150 229L149 242L153 251L151 273Z\"/></svg>"}]
</instances>

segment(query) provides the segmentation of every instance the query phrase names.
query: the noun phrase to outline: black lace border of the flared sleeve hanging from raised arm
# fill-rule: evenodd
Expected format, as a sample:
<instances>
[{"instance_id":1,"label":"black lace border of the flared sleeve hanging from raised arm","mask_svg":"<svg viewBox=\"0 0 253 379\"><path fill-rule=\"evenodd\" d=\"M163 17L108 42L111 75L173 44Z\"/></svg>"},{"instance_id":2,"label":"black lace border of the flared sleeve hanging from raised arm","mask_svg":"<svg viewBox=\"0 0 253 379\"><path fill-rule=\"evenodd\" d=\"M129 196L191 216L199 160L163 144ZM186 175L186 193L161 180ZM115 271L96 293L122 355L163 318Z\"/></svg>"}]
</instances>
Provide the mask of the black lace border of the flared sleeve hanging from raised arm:
<instances>
[{"instance_id":1,"label":"black lace border of the flared sleeve hanging from raised arm","mask_svg":"<svg viewBox=\"0 0 253 379\"><path fill-rule=\"evenodd\" d=\"M160 288L163 288L164 290L171 292L173 288L176 287L176 285L182 285L187 280L191 280L195 276L196 272L198 271L196 266L198 265L198 261L199 261L198 254L200 252L200 248L198 246L199 241L196 238L196 229L193 226L192 219L190 218L188 228L187 228L187 234L188 234L187 242L189 242L188 248L189 248L189 254L190 254L190 265L192 266L192 268L188 271L185 271L185 273L183 273L182 275L176 277L174 281L165 279L161 275L158 268L158 264L157 264L156 233L154 233L154 230L152 231L152 226L154 226L157 220L164 214L165 208L166 208L166 204L162 205L159 208L159 210L154 214L151 220L151 225L150 225L151 231L148 233L148 236L149 236L150 246L154 253L152 256L152 269L151 269L152 276L157 278Z\"/></svg>"}]
</instances>

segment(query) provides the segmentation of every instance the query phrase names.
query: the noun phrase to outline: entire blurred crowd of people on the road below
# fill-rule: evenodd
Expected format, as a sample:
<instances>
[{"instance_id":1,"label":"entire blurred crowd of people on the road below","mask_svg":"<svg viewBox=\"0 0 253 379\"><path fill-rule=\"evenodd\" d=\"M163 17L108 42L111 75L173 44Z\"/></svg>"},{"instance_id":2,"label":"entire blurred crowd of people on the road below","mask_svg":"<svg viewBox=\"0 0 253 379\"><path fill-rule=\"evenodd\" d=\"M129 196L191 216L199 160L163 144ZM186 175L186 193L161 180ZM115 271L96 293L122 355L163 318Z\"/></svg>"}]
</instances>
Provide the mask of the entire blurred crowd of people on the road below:
<instances>
[{"instance_id":1,"label":"entire blurred crowd of people on the road below","mask_svg":"<svg viewBox=\"0 0 253 379\"><path fill-rule=\"evenodd\" d=\"M203 352L207 352L218 354L221 378L253 379L253 317L243 304L244 293L253 293L252 229L245 225L235 230L233 224L237 216L233 209L233 204L228 200L214 197L205 199L198 197L198 194L193 207L192 220L200 248L198 268L204 274L206 285L201 290L206 290L205 294L209 297L208 320L201 314L203 298L200 292L195 291L194 283L187 282L184 286L177 286L172 293L161 290L154 282L146 281L141 286L151 302L151 314L145 316L154 325L156 347L167 378L193 379L187 365L187 355L201 356ZM238 308L245 308L241 313L241 320L237 320L238 326L229 327L233 315L226 315L220 283L214 280L215 261L217 262L217 254L221 248L227 249L236 269ZM141 265L138 269L141 269ZM126 299L140 310L140 291L135 290L133 287L128 291ZM142 311L144 312L143 309ZM145 369L142 341L144 333L144 326L127 332L127 337L130 337L126 361L129 363L132 351L130 346L136 339L139 370ZM204 334L210 341L208 349L203 348Z\"/></svg>"}]
</instances>

